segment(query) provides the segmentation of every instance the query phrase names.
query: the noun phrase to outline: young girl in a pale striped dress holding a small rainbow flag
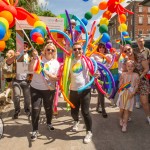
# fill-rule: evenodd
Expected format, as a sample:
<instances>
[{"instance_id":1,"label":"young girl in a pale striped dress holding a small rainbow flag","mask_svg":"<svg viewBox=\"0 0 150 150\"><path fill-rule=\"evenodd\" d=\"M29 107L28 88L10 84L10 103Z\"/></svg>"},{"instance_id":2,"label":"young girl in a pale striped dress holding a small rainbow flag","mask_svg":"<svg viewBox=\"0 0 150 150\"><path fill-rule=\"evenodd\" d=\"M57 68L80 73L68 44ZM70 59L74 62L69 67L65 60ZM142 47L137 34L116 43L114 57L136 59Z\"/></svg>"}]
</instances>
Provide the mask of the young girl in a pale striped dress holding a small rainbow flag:
<instances>
[{"instance_id":1,"label":"young girl in a pale striped dress holding a small rainbow flag","mask_svg":"<svg viewBox=\"0 0 150 150\"><path fill-rule=\"evenodd\" d=\"M123 72L120 76L120 85L130 83L127 88L124 88L119 93L117 105L120 108L120 126L122 132L127 131L127 122L129 119L129 113L133 110L134 95L138 89L139 75L134 73L134 61L128 60L126 62L127 72Z\"/></svg>"}]
</instances>

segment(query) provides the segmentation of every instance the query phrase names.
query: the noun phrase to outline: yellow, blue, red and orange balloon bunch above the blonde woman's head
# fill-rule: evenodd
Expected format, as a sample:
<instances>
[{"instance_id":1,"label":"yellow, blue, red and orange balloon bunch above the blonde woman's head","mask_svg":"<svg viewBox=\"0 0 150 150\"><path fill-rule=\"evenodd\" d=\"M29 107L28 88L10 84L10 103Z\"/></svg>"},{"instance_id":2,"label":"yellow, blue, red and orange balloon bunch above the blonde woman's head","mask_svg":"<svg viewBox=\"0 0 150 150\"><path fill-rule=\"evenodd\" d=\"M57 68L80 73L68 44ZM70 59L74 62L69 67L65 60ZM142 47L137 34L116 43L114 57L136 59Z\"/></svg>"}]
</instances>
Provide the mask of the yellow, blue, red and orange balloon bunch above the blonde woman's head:
<instances>
[{"instance_id":1,"label":"yellow, blue, red and orange balloon bunch above the blonde woman's head","mask_svg":"<svg viewBox=\"0 0 150 150\"><path fill-rule=\"evenodd\" d=\"M30 38L37 44L43 44L47 35L46 25L42 21L35 21L34 29L30 32Z\"/></svg>"}]
</instances>

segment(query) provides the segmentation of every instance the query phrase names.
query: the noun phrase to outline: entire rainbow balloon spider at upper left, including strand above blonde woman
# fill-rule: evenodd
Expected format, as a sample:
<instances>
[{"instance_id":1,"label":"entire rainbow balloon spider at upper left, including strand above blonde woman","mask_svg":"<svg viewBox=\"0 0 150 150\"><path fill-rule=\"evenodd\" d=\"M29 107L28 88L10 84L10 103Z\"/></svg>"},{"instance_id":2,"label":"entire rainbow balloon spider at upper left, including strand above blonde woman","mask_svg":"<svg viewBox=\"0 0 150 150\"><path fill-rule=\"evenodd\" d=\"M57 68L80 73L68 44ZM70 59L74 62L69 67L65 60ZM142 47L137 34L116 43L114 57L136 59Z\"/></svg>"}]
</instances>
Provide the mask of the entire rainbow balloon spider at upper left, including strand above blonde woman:
<instances>
[{"instance_id":1,"label":"entire rainbow balloon spider at upper left, including strand above blonde woman","mask_svg":"<svg viewBox=\"0 0 150 150\"><path fill-rule=\"evenodd\" d=\"M1 0L0 1L0 51L3 51L6 47L5 41L7 41L11 36L10 28L14 27L15 20L27 20L28 24L38 28L32 39L38 44L43 44L44 37L46 35L46 25L44 23L36 23L39 21L39 18L35 14L31 14L22 7L16 7L18 0L9 1ZM35 25L34 25L35 24ZM44 26L44 27L43 27Z\"/></svg>"}]
</instances>

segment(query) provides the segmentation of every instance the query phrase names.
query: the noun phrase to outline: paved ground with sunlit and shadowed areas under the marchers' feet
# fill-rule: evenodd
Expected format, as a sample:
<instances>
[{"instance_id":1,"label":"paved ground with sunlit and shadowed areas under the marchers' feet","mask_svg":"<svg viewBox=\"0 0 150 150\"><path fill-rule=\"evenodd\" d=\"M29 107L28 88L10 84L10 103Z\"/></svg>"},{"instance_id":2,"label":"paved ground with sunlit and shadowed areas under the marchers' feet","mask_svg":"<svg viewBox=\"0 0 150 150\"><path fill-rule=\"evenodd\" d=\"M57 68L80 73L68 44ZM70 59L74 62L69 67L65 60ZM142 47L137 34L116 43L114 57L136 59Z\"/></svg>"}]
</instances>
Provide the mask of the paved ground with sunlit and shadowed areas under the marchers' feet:
<instances>
[{"instance_id":1,"label":"paved ground with sunlit and shadowed areas under the marchers' feet","mask_svg":"<svg viewBox=\"0 0 150 150\"><path fill-rule=\"evenodd\" d=\"M59 114L53 119L54 131L49 131L45 125L45 114L42 109L39 132L40 136L34 142L30 141L32 131L30 120L25 116L23 109L21 116L13 120L13 105L6 108L2 118L5 124L4 136L0 140L1 150L149 150L150 125L146 123L142 109L134 109L128 132L122 133L118 124L119 109L111 108L106 104L108 118L103 118L95 111L96 94L92 96L91 113L93 119L93 141L83 144L85 128L83 119L80 121L80 130L72 132L72 118L66 111L66 104L62 98L59 101ZM23 103L21 102L23 108Z\"/></svg>"}]
</instances>

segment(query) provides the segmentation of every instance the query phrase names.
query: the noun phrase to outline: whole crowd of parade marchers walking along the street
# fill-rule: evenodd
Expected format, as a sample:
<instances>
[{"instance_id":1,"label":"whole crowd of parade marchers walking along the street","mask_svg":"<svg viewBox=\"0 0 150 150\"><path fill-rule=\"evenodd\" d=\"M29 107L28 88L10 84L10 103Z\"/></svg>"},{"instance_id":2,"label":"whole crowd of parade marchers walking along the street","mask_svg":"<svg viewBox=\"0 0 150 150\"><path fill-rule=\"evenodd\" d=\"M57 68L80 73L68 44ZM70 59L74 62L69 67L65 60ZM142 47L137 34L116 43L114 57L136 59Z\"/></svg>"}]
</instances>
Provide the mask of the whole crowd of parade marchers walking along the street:
<instances>
[{"instance_id":1,"label":"whole crowd of parade marchers walking along the street","mask_svg":"<svg viewBox=\"0 0 150 150\"><path fill-rule=\"evenodd\" d=\"M66 41L63 41L63 43L65 42ZM137 38L137 45L138 47L133 49L129 44L120 44L119 52L110 52L105 47L105 44L99 42L96 49L98 53L105 55L105 57L110 60L104 64L106 67L109 66L113 54L116 53L115 62L109 69L114 76L116 86L116 91L110 101L113 105L117 105L120 108L118 123L121 126L122 132L127 131L128 121L132 118L131 112L134 106L136 108L143 108L146 120L150 125L150 86L149 79L146 77L149 72L150 50L144 47L143 37ZM67 44L65 46L67 47ZM78 92L79 88L90 82L90 72L82 58L82 46L81 42L75 42L71 47L74 57L71 61L69 71L69 100L75 106L75 108L71 107L71 116L74 121L72 130L78 131L80 123L79 110L81 107L81 113L86 127L84 143L89 143L93 136L92 130L94 130L92 128L92 117L89 110L91 92L97 91L96 111L101 113L104 118L108 117L105 110L105 97L108 98L108 95L102 94L94 84ZM28 51L29 43L26 41L24 42L23 55L14 50L8 50L3 65L3 76L7 82L6 102L14 104L13 119L18 119L20 115L20 98L21 93L23 93L24 111L28 117L31 116L32 120L31 140L36 140L38 137L38 123L42 104L45 110L47 128L54 130L52 124L53 102L56 92L56 83L60 79L58 72L61 64L57 60L57 47L53 44L51 39L46 41L46 45L44 45L40 54L36 49L33 49L31 56L29 56ZM124 56L123 60L120 61L122 56ZM46 65L50 68L49 70L44 70L44 78L42 74L34 72L34 66L38 59L41 60L44 66ZM91 59L99 63L105 61L104 57L96 54L91 55ZM33 74L17 73L17 62L29 64L29 71L33 72ZM77 67L78 69L76 69ZM116 73L113 72L114 68L117 71ZM93 76L102 81L102 76L99 72L95 72ZM118 92L119 87L126 83L130 83L130 87ZM12 98L9 99L11 89L13 91ZM119 95L117 102L114 101L116 94Z\"/></svg>"}]
</instances>

